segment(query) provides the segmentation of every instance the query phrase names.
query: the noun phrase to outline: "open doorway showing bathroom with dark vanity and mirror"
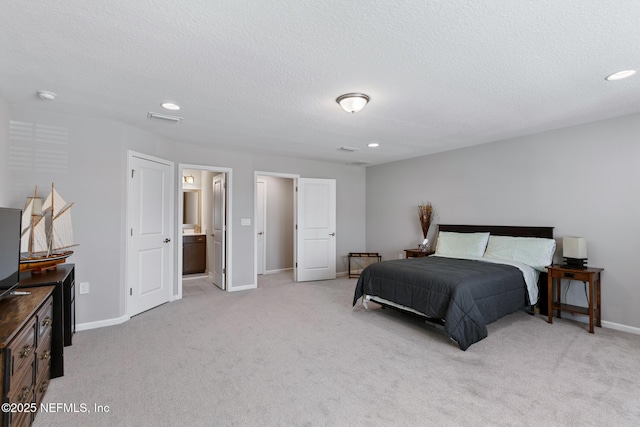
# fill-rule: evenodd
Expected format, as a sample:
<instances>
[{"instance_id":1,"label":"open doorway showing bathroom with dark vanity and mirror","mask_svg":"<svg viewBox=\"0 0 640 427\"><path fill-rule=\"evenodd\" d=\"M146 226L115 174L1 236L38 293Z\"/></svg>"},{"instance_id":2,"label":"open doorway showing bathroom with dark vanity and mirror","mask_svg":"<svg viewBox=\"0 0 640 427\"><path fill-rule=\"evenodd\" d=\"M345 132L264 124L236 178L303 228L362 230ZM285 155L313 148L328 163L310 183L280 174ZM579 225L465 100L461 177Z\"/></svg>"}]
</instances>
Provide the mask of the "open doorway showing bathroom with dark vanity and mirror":
<instances>
[{"instance_id":1,"label":"open doorway showing bathroom with dark vanity and mirror","mask_svg":"<svg viewBox=\"0 0 640 427\"><path fill-rule=\"evenodd\" d=\"M231 290L231 170L180 165L179 179L179 298L192 279Z\"/></svg>"}]
</instances>

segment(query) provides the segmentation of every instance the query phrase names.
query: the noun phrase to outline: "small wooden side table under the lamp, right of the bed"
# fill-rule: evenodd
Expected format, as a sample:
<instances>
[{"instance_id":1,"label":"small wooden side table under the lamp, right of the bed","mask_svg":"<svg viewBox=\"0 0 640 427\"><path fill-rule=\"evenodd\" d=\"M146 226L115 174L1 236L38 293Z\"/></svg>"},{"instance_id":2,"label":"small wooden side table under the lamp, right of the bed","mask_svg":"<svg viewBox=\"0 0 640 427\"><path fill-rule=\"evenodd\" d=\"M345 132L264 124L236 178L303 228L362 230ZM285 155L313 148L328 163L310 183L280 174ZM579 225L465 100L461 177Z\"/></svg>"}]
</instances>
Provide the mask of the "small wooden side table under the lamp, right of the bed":
<instances>
[{"instance_id":1,"label":"small wooden side table under the lamp, right of the bed","mask_svg":"<svg viewBox=\"0 0 640 427\"><path fill-rule=\"evenodd\" d=\"M593 323L595 318L596 326L602 327L601 324L601 310L600 310L600 272L604 268L587 267L587 268L573 268L563 265L552 265L548 267L547 271L547 298L548 298L548 316L547 322L553 323L553 310L558 312L558 318L562 317L563 311L568 311L574 314L586 314L589 316L589 332L593 333ZM553 279L556 280L556 300L553 299ZM588 307L579 307L571 304L563 304L561 298L562 279L567 280L579 280L585 284L589 284Z\"/></svg>"}]
</instances>

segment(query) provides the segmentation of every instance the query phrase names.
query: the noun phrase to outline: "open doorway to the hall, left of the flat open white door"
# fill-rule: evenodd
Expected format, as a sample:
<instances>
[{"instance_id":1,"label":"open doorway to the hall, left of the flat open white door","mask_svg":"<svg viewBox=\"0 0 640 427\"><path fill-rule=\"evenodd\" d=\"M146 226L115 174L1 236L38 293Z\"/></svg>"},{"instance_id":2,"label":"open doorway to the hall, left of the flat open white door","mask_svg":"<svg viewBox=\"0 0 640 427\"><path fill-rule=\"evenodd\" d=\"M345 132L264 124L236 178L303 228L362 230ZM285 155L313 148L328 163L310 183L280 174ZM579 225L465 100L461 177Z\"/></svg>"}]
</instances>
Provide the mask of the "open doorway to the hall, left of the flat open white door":
<instances>
[{"instance_id":1,"label":"open doorway to the hall, left of the flat open white door","mask_svg":"<svg viewBox=\"0 0 640 427\"><path fill-rule=\"evenodd\" d=\"M277 274L294 279L295 178L256 172L256 283Z\"/></svg>"}]
</instances>

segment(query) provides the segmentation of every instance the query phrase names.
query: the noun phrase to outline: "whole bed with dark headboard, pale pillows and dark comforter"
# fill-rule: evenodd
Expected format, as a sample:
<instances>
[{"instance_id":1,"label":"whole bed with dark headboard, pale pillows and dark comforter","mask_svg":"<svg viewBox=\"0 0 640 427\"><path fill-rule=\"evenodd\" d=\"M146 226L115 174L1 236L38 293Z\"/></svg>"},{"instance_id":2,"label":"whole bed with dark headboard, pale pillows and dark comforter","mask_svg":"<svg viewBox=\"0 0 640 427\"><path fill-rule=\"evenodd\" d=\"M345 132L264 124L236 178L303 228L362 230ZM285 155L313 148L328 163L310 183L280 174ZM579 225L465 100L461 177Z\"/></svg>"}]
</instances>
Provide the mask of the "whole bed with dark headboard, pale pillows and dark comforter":
<instances>
[{"instance_id":1,"label":"whole bed with dark headboard, pale pillows and dark comforter","mask_svg":"<svg viewBox=\"0 0 640 427\"><path fill-rule=\"evenodd\" d=\"M374 301L422 316L466 350L487 337L487 324L533 312L555 248L553 227L441 224L434 255L365 268L353 305L362 298L367 309Z\"/></svg>"}]
</instances>

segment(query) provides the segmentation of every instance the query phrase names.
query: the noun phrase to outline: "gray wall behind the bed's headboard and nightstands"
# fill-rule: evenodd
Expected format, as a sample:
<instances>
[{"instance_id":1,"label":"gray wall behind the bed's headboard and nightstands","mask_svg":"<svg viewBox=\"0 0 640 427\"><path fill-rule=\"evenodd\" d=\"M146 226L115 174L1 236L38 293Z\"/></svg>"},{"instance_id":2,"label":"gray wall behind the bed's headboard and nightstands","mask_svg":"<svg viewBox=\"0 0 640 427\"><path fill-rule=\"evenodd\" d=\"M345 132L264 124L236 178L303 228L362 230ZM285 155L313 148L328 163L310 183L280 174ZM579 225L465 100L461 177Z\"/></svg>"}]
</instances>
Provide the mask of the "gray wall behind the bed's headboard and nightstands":
<instances>
[{"instance_id":1,"label":"gray wall behind the bed's headboard and nightstands","mask_svg":"<svg viewBox=\"0 0 640 427\"><path fill-rule=\"evenodd\" d=\"M589 265L605 268L603 321L640 332L638 135L632 115L368 167L367 250L415 247L421 201L434 205L432 236L437 223L554 226L585 237ZM582 283L569 301L586 305Z\"/></svg>"}]
</instances>

